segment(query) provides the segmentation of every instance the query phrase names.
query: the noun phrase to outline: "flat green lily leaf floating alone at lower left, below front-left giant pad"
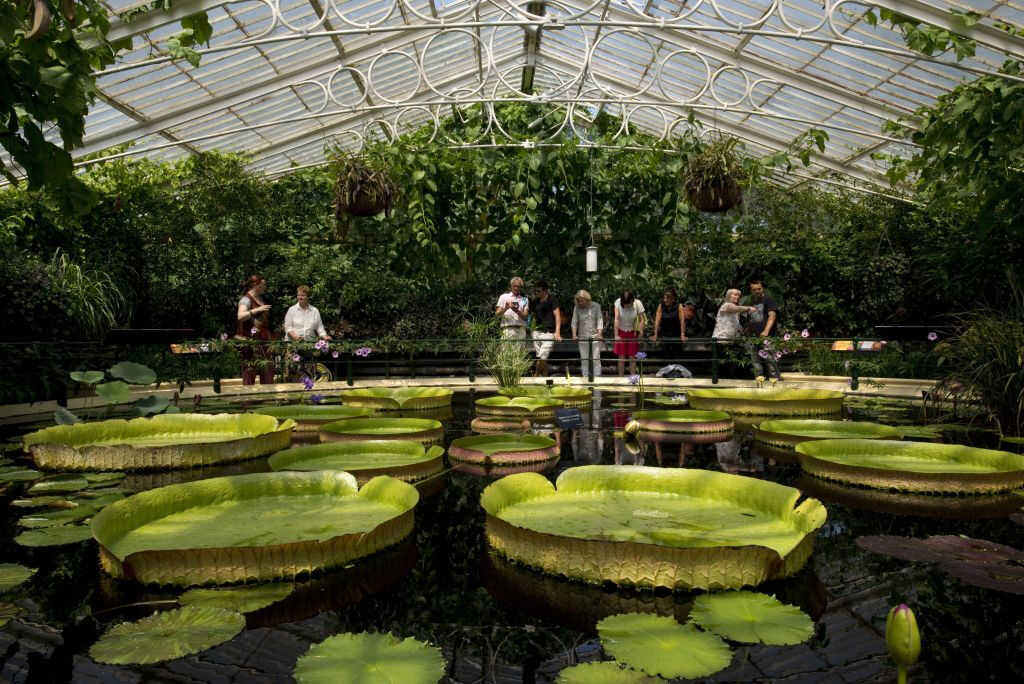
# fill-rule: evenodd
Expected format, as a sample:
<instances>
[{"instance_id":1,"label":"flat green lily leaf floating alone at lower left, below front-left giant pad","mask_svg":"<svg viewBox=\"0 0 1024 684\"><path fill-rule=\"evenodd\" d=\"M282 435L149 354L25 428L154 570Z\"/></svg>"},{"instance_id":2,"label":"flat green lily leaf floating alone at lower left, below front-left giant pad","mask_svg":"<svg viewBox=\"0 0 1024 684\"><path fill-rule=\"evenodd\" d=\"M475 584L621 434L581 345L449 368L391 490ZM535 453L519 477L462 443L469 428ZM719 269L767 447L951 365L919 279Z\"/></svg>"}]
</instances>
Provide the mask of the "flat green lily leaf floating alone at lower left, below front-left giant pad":
<instances>
[{"instance_id":1,"label":"flat green lily leaf floating alone at lower left, below front-left giant pad","mask_svg":"<svg viewBox=\"0 0 1024 684\"><path fill-rule=\"evenodd\" d=\"M92 645L89 655L110 665L172 660L224 643L245 627L240 612L185 606L111 628Z\"/></svg>"}]
</instances>

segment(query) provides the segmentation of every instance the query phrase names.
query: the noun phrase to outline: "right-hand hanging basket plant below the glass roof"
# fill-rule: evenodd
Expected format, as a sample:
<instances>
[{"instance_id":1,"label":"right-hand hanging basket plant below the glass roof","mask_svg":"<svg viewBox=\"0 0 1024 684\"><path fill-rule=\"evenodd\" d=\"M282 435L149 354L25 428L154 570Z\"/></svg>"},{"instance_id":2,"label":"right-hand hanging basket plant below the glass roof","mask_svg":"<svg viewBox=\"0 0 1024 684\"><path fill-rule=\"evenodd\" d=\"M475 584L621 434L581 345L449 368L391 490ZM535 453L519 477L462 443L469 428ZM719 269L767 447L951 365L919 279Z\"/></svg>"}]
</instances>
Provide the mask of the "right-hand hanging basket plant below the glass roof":
<instances>
[{"instance_id":1,"label":"right-hand hanging basket plant below the glass roof","mask_svg":"<svg viewBox=\"0 0 1024 684\"><path fill-rule=\"evenodd\" d=\"M690 204L700 211L726 211L743 202L739 181L743 163L739 140L722 137L705 145L686 165L683 184Z\"/></svg>"}]
</instances>

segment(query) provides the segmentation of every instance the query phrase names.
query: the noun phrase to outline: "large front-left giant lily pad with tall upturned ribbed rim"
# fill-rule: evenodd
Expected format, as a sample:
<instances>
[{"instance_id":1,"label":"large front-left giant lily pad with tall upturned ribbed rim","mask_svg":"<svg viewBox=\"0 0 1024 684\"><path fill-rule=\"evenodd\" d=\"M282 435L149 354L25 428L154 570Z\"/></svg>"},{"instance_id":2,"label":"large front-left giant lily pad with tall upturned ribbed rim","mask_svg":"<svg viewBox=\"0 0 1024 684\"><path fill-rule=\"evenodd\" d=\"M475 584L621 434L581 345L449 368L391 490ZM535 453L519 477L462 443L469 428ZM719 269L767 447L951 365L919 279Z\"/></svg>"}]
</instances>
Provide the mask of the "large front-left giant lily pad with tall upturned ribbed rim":
<instances>
[{"instance_id":1,"label":"large front-left giant lily pad with tall upturned ribbed rim","mask_svg":"<svg viewBox=\"0 0 1024 684\"><path fill-rule=\"evenodd\" d=\"M143 491L91 524L114 576L228 584L292 578L396 544L413 529L418 500L392 477L357 489L339 471L257 473Z\"/></svg>"}]
</instances>

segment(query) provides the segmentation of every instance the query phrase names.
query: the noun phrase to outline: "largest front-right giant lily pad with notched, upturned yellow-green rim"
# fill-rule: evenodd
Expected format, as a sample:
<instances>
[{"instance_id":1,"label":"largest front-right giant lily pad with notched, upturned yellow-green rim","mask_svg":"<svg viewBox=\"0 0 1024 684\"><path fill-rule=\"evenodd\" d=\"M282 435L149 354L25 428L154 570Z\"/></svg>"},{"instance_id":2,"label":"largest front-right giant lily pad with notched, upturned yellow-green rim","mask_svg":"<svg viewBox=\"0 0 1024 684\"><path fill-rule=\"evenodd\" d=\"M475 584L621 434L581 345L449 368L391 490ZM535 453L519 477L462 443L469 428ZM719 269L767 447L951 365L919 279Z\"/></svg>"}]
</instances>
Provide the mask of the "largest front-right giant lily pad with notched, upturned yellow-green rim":
<instances>
[{"instance_id":1,"label":"largest front-right giant lily pad with notched, upturned yellow-green rim","mask_svg":"<svg viewBox=\"0 0 1024 684\"><path fill-rule=\"evenodd\" d=\"M511 475L480 504L502 555L592 584L735 589L810 557L821 504L774 482L707 470L580 466Z\"/></svg>"}]
</instances>

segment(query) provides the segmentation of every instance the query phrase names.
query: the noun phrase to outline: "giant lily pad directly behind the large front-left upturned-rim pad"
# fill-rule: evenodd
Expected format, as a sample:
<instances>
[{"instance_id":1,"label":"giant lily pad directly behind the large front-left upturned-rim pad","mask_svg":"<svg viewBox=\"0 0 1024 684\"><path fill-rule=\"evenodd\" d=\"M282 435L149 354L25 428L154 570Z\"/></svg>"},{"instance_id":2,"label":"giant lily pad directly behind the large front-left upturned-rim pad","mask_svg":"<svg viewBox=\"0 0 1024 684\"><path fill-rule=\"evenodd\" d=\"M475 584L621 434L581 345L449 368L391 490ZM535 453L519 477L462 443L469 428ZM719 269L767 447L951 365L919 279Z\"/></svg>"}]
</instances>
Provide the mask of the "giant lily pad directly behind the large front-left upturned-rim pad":
<instances>
[{"instance_id":1,"label":"giant lily pad directly behind the large front-left upturned-rim pad","mask_svg":"<svg viewBox=\"0 0 1024 684\"><path fill-rule=\"evenodd\" d=\"M421 480L443 467L444 450L425 447L418 441L397 439L332 441L296 446L268 459L274 470L344 470L360 484L377 475L390 475L406 482Z\"/></svg>"}]
</instances>

